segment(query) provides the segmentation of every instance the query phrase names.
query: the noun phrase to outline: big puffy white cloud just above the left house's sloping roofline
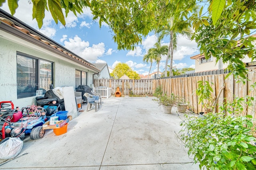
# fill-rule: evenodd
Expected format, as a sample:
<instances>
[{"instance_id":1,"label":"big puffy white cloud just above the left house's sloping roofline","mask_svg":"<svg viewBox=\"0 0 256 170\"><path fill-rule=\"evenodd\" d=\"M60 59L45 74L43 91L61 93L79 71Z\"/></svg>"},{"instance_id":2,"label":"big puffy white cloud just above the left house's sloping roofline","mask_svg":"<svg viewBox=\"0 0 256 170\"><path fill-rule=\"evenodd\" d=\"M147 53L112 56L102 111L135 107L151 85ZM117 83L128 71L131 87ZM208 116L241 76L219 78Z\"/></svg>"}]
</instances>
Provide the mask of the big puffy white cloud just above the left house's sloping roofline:
<instances>
[{"instance_id":1,"label":"big puffy white cloud just above the left house's sloping roofline","mask_svg":"<svg viewBox=\"0 0 256 170\"><path fill-rule=\"evenodd\" d=\"M90 62L96 61L105 52L104 43L93 44L92 47L89 47L90 43L88 41L82 41L78 35L74 39L69 38L68 40L64 41L65 47Z\"/></svg>"}]
</instances>

